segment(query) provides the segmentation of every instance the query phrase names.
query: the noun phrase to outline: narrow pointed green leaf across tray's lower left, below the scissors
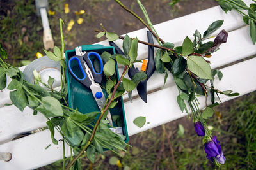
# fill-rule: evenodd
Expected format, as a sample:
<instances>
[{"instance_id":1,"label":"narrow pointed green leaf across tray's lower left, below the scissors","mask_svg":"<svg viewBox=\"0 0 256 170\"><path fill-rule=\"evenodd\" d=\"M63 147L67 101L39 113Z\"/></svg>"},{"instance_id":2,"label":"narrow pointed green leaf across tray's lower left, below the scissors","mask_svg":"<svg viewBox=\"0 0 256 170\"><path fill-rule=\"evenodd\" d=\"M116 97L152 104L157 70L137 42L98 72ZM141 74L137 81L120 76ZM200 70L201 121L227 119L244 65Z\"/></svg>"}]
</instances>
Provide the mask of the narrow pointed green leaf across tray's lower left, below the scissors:
<instances>
[{"instance_id":1,"label":"narrow pointed green leaf across tray's lower left, below the scissors","mask_svg":"<svg viewBox=\"0 0 256 170\"><path fill-rule=\"evenodd\" d=\"M90 113L80 113L79 111L72 111L70 118L72 120L76 120L77 122L83 122L85 124L90 124L93 119L95 119L97 117L97 115L99 115L99 111L93 111Z\"/></svg>"}]
</instances>

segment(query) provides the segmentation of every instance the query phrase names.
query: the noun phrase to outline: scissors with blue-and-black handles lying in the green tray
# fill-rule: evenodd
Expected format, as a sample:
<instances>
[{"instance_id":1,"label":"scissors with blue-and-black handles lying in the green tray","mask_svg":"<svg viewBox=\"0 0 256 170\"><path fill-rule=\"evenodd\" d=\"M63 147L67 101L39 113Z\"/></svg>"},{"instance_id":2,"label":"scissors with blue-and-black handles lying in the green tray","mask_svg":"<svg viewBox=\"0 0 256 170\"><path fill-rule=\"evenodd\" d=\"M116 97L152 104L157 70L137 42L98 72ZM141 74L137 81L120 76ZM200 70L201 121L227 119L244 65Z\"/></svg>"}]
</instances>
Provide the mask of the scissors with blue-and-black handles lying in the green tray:
<instances>
[{"instance_id":1,"label":"scissors with blue-and-black handles lying in the green tray","mask_svg":"<svg viewBox=\"0 0 256 170\"><path fill-rule=\"evenodd\" d=\"M104 97L103 91L100 87L100 83L103 77L103 61L97 52L82 52L81 46L76 47L76 55L68 60L68 71L72 74L77 81L82 83L85 87L92 90L93 97L97 102L100 110L104 107L106 103L106 98ZM99 73L95 71L93 66L92 57L95 56L100 62ZM71 62L77 62L76 67L72 67ZM77 71L78 66L78 71ZM76 70L76 71L75 71ZM113 126L111 114L108 110L107 120L109 125Z\"/></svg>"}]
</instances>

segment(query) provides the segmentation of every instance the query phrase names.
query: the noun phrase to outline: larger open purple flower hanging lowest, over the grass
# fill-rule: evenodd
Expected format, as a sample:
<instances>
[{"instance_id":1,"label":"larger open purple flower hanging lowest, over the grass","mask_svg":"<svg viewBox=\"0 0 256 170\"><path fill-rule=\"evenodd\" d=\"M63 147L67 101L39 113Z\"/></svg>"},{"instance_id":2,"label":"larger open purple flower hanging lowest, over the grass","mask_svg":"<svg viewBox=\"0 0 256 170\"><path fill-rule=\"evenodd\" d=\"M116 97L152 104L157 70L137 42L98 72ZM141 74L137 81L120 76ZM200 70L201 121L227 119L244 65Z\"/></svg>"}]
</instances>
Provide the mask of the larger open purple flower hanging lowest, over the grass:
<instances>
[{"instance_id":1,"label":"larger open purple flower hanging lowest, over the grass","mask_svg":"<svg viewBox=\"0 0 256 170\"><path fill-rule=\"evenodd\" d=\"M216 162L225 164L226 158L223 155L220 144L218 143L220 143L220 141L217 140L216 136L212 137L212 141L205 143L204 150L206 157L211 161L213 161L215 158Z\"/></svg>"}]
</instances>

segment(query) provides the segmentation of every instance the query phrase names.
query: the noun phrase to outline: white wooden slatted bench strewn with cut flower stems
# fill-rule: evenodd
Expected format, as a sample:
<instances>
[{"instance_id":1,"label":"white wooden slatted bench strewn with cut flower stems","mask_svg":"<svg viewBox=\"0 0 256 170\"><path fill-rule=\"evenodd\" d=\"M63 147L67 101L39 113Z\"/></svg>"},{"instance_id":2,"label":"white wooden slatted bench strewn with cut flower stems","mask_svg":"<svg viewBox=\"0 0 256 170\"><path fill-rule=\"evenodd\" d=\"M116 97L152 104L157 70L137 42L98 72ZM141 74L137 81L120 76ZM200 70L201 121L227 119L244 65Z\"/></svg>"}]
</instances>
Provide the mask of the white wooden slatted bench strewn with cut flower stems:
<instances>
[{"instance_id":1,"label":"white wooden slatted bench strewn with cut flower stems","mask_svg":"<svg viewBox=\"0 0 256 170\"><path fill-rule=\"evenodd\" d=\"M246 0L245 3L250 4L250 1ZM224 20L221 29L225 29L228 32L228 42L221 45L220 50L209 59L211 60L212 69L225 66L256 53L256 46L253 45L250 39L249 27L244 24L242 17L235 11L225 14L219 6L157 24L155 29L164 41L169 41L175 43L175 46L179 46L186 36L192 39L195 29L204 32L208 25L216 20ZM220 32L220 30L218 31ZM216 34L218 31L216 31ZM137 36L138 39L147 41L146 29L130 32L129 36ZM107 41L102 41L99 44L109 46ZM116 44L122 47L121 40L116 41ZM140 44L138 49L138 57L140 59L147 56L147 46ZM253 92L256 90L255 66L256 58L224 67L221 69L224 74L223 79L214 81L216 89L233 90L241 95ZM20 69L24 69L24 67ZM121 71L122 67L120 67ZM168 76L164 87L163 80L164 75L159 73L154 73L152 78L148 80L147 90L157 89L156 92L148 94L148 103L144 103L140 98L134 99L133 103L124 103L129 136L186 115L186 113L180 111L177 104L178 91L172 76ZM136 96L136 90L132 94ZM234 97L221 95L220 98L224 102ZM124 99L127 99L127 96L124 96ZM210 102L210 100L208 101ZM9 99L9 91L4 89L0 92L0 152L11 153L12 159L9 162L0 160L0 169L35 169L62 159L62 143L51 145L45 150L45 147L52 143L48 129L12 141L19 134L46 127L46 118L40 113L33 116L33 111L28 107L21 113L13 105L5 106L4 104L6 103L11 103L11 101ZM201 108L204 108L204 97L201 98L200 103ZM150 122L150 124L145 124L141 128L137 127L133 124L133 120L138 116L145 116L146 121ZM61 139L60 134L56 133L55 138ZM66 155L70 155L69 149L66 149Z\"/></svg>"}]
</instances>

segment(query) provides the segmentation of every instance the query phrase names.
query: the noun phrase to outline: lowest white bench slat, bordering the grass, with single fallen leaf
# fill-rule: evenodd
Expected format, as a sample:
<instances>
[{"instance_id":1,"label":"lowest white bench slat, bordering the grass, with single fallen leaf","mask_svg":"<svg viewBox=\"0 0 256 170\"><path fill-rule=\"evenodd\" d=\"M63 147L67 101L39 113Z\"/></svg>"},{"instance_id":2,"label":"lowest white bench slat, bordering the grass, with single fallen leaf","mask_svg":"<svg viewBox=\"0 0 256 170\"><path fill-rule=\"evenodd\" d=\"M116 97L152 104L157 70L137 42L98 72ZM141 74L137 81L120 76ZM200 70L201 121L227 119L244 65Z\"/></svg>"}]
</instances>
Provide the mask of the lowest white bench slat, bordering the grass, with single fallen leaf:
<instances>
[{"instance_id":1,"label":"lowest white bench slat, bordering the grass, with single fallen leaf","mask_svg":"<svg viewBox=\"0 0 256 170\"><path fill-rule=\"evenodd\" d=\"M254 74L255 64L256 58L221 69L224 74L223 80L215 80L216 88L219 90L232 89L236 92L240 92L241 95L256 90L256 74ZM239 70L239 72L237 72L237 70ZM234 79L234 74L236 75L236 79ZM129 136L151 129L157 125L165 124L177 118L184 117L186 113L181 113L179 106L177 105L177 94L177 88L173 86L160 90L157 93L149 94L148 99L150 99L150 103L148 104L145 104L140 99L135 99L134 103L125 103L125 113L129 115L126 120L127 124L129 124ZM234 97L220 95L220 98L221 101L224 102L233 99ZM156 106L156 103L154 103L152 99L154 99L154 101L162 102L159 102ZM204 108L204 97L200 98L200 103L200 107ZM150 124L145 124L144 127L141 128L136 127L132 121L139 115L145 116L147 122L150 122ZM61 139L61 136L58 133L55 137L56 139ZM60 145L58 146L52 144L45 150L45 147L50 143L51 134L49 130L45 130L0 145L0 152L11 152L13 156L10 162L0 161L1 169L35 169L61 159L63 154L62 143L60 142ZM67 147L66 152L66 155L70 155Z\"/></svg>"}]
</instances>

